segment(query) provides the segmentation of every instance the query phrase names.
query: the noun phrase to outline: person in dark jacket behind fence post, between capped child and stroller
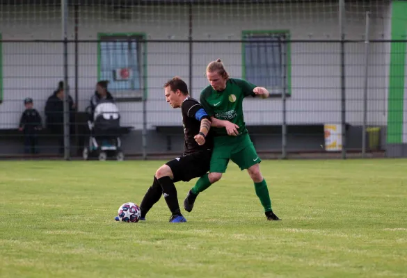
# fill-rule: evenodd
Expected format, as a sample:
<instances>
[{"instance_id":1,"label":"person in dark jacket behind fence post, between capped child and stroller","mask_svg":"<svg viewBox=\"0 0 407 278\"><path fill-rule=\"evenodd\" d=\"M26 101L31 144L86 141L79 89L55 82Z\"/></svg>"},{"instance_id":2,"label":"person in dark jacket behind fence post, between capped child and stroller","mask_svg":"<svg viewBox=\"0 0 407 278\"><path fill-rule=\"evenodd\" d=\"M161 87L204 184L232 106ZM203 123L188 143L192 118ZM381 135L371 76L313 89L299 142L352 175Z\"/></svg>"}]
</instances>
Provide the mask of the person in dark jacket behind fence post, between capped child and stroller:
<instances>
[{"instance_id":1,"label":"person in dark jacket behind fence post, between capped child and stroller","mask_svg":"<svg viewBox=\"0 0 407 278\"><path fill-rule=\"evenodd\" d=\"M47 117L47 129L58 138L59 153L63 154L64 144L63 144L63 81L58 83L58 88L54 91L47 99L47 104L45 104L45 115ZM69 99L69 111L70 111L70 123L74 122L74 101L71 96Z\"/></svg>"}]
</instances>

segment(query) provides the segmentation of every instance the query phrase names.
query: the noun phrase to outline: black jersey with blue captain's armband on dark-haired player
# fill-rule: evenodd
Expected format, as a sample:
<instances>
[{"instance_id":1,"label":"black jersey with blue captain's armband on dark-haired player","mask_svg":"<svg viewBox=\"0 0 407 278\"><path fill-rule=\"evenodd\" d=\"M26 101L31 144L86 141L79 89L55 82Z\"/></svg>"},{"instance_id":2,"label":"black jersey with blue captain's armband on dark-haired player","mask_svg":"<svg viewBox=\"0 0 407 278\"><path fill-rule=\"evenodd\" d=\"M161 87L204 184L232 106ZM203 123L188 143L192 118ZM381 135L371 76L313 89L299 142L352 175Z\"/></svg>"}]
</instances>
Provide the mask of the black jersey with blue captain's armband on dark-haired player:
<instances>
[{"instance_id":1,"label":"black jersey with blue captain's armband on dark-haired player","mask_svg":"<svg viewBox=\"0 0 407 278\"><path fill-rule=\"evenodd\" d=\"M205 144L202 146L198 145L194 139L194 136L200 131L200 121L203 118L209 119L204 108L196 99L186 97L182 102L181 110L182 124L184 125L184 155L212 149L214 146L212 131L209 131L205 138Z\"/></svg>"}]
</instances>

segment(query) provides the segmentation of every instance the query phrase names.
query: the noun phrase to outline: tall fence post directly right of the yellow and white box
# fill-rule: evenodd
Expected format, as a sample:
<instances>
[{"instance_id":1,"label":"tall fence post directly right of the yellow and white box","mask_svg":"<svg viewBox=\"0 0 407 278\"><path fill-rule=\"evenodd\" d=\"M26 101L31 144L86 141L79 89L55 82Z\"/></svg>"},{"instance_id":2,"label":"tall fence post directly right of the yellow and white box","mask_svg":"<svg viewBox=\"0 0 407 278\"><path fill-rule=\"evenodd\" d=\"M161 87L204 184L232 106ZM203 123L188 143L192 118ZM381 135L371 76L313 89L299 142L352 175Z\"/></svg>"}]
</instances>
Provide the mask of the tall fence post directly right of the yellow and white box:
<instances>
[{"instance_id":1,"label":"tall fence post directly right of the yellow and white box","mask_svg":"<svg viewBox=\"0 0 407 278\"><path fill-rule=\"evenodd\" d=\"M342 159L346 159L345 1L339 0Z\"/></svg>"}]
</instances>

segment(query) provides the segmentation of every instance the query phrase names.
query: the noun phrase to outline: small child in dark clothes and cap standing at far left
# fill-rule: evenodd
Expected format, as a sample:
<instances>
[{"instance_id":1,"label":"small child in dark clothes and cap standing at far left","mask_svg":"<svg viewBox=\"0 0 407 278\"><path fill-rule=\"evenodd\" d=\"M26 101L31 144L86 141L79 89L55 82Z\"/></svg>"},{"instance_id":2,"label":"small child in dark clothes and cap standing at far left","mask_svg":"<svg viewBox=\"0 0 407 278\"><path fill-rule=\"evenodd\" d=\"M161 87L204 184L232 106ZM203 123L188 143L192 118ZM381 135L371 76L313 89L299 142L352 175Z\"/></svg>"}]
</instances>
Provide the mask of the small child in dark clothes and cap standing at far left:
<instances>
[{"instance_id":1,"label":"small child in dark clothes and cap standing at far left","mask_svg":"<svg viewBox=\"0 0 407 278\"><path fill-rule=\"evenodd\" d=\"M40 113L33 108L33 99L24 99L26 110L19 120L19 131L24 132L24 152L38 154L38 131L42 129Z\"/></svg>"}]
</instances>

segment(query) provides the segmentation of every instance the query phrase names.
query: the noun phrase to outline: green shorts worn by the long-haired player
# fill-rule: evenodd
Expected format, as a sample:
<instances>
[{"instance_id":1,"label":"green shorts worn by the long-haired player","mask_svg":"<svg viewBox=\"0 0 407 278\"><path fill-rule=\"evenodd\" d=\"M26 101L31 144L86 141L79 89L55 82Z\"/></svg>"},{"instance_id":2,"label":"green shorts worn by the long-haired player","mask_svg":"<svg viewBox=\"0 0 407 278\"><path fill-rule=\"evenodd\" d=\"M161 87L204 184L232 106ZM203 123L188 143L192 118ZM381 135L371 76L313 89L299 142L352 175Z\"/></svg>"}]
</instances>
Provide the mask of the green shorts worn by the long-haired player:
<instances>
[{"instance_id":1,"label":"green shorts worn by the long-haired player","mask_svg":"<svg viewBox=\"0 0 407 278\"><path fill-rule=\"evenodd\" d=\"M248 133L237 137L222 136L214 138L214 151L212 152L209 172L226 172L230 159L240 167L240 170L248 169L262 161L257 155Z\"/></svg>"}]
</instances>

